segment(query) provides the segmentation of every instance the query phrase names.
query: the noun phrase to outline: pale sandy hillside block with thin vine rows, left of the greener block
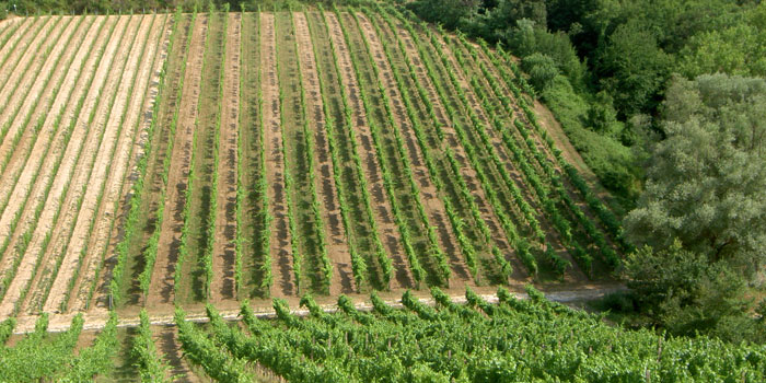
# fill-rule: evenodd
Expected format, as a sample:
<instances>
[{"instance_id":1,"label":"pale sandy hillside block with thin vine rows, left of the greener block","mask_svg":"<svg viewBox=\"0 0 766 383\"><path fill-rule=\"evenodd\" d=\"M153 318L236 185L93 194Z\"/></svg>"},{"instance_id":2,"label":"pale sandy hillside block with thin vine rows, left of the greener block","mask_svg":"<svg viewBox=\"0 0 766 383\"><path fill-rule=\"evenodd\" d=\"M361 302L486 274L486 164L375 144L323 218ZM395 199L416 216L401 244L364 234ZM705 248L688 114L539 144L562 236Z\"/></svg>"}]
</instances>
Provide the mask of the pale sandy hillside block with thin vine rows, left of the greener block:
<instances>
[{"instance_id":1,"label":"pale sandy hillside block with thin vine rows, left of the greener block","mask_svg":"<svg viewBox=\"0 0 766 383\"><path fill-rule=\"evenodd\" d=\"M0 315L86 310L146 127L165 15L15 20L0 32Z\"/></svg>"}]
</instances>

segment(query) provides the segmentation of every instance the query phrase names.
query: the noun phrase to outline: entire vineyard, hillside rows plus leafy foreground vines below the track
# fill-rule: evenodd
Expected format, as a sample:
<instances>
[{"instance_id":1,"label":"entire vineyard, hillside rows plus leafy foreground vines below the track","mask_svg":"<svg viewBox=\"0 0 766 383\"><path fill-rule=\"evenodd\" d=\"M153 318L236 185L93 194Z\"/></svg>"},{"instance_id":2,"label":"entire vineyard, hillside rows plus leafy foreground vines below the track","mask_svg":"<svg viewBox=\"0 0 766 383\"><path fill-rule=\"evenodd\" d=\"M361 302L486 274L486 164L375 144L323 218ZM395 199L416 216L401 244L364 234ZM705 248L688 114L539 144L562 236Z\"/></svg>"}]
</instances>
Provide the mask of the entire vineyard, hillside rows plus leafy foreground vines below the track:
<instances>
[{"instance_id":1,"label":"entire vineyard, hillside rows plus leafy foreground vines below the track","mask_svg":"<svg viewBox=\"0 0 766 383\"><path fill-rule=\"evenodd\" d=\"M511 54L374 3L1 22L0 381L763 379L763 350L720 372L471 292L611 282L631 249Z\"/></svg>"}]
</instances>

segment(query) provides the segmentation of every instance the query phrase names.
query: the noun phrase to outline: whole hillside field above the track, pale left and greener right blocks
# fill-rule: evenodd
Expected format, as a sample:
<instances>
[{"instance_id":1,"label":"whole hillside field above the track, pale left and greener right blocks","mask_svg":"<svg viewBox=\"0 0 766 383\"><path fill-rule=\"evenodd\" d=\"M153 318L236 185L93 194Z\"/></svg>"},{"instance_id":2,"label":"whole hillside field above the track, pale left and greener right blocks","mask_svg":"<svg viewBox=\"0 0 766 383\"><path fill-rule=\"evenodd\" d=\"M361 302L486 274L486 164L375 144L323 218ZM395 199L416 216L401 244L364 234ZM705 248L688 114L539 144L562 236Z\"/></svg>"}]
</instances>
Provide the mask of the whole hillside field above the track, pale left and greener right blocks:
<instances>
[{"instance_id":1,"label":"whole hillside field above the track, pale left and greener right blocks","mask_svg":"<svg viewBox=\"0 0 766 383\"><path fill-rule=\"evenodd\" d=\"M0 321L608 280L622 229L527 86L394 9L2 22Z\"/></svg>"}]
</instances>

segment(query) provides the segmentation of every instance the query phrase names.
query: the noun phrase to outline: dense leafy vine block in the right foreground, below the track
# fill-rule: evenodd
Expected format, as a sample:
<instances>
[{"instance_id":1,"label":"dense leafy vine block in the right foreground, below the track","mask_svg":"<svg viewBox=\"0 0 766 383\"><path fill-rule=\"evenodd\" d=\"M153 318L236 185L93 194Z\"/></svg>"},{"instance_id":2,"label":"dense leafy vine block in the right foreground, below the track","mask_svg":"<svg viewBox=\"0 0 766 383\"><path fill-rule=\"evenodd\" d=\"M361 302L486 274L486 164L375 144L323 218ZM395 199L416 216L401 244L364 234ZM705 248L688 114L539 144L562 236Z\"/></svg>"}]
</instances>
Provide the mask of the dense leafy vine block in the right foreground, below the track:
<instances>
[{"instance_id":1,"label":"dense leafy vine block in the right foreground, below the track","mask_svg":"<svg viewBox=\"0 0 766 383\"><path fill-rule=\"evenodd\" d=\"M648 382L761 381L766 349L706 337L675 338L626 330L600 317L547 301L529 289L530 300L500 290L488 304L471 290L468 305L454 304L434 289L437 309L409 292L404 310L372 297L372 313L346 297L339 311L323 312L304 298L311 315L290 313L275 300L277 320L258 320L245 303L248 330L230 326L208 307L210 326L182 325L184 348L208 373L246 381L242 362L291 382ZM198 357L199 356L199 357ZM221 358L227 356L227 358ZM225 362L224 362L225 361Z\"/></svg>"}]
</instances>

